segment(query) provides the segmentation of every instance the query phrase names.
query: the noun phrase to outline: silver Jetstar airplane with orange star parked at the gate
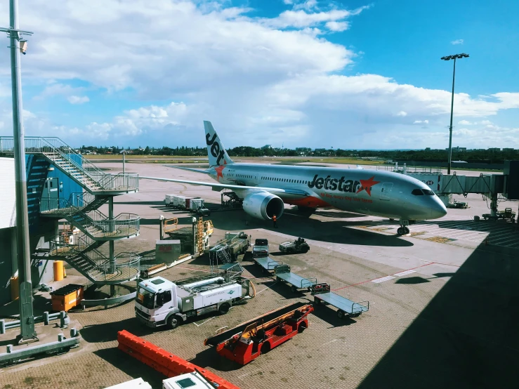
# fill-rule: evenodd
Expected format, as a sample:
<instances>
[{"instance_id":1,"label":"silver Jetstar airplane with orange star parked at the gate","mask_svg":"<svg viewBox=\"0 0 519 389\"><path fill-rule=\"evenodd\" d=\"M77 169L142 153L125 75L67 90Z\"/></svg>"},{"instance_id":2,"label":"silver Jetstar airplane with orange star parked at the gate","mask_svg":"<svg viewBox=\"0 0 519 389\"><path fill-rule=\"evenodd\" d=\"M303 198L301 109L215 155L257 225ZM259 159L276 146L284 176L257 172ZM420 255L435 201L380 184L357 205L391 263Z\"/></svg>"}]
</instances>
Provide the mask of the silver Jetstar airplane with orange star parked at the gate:
<instances>
[{"instance_id":1,"label":"silver Jetstar airplane with orange star parked at the gate","mask_svg":"<svg viewBox=\"0 0 519 389\"><path fill-rule=\"evenodd\" d=\"M215 183L173 178L139 178L230 189L242 199L244 211L263 220L279 219L284 204L299 211L333 207L343 211L398 219L398 235L409 234L409 220L431 220L447 214L447 209L429 187L416 178L390 171L342 169L315 166L280 166L235 163L210 121L204 121L209 169L189 171L206 173Z\"/></svg>"}]
</instances>

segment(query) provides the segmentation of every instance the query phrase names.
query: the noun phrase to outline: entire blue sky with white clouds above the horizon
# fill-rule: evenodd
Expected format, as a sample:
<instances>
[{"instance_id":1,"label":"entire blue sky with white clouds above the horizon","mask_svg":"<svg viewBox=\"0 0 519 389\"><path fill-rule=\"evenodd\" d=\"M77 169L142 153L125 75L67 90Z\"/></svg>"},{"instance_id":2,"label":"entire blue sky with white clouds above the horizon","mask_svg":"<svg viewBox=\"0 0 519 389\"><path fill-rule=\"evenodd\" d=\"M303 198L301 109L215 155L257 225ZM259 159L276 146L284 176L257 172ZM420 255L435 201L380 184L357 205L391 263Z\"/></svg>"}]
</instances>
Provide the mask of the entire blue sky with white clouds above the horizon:
<instances>
[{"instance_id":1,"label":"entire blue sky with white clouds above the horizon","mask_svg":"<svg viewBox=\"0 0 519 389\"><path fill-rule=\"evenodd\" d=\"M20 4L28 135L79 145L519 149L517 1ZM0 20L8 23L6 2ZM7 40L6 40L7 43ZM0 135L11 135L8 50Z\"/></svg>"}]
</instances>

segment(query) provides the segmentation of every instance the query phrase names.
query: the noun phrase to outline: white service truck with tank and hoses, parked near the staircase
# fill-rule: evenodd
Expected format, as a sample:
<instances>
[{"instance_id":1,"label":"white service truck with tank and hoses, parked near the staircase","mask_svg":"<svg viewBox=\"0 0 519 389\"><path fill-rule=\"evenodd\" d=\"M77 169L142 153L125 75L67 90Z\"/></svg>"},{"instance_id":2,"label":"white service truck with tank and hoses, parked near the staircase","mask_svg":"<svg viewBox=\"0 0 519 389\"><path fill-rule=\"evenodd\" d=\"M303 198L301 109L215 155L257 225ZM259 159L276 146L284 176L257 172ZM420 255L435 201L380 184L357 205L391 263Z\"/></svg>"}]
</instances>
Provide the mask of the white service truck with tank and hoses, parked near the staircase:
<instances>
[{"instance_id":1,"label":"white service truck with tank and hoses, parked near the staircase","mask_svg":"<svg viewBox=\"0 0 519 389\"><path fill-rule=\"evenodd\" d=\"M154 277L139 282L135 313L147 327L168 325L174 329L189 317L209 312L225 315L234 303L250 296L251 290L251 283L245 278L226 282L223 277L214 277L177 285Z\"/></svg>"}]
</instances>

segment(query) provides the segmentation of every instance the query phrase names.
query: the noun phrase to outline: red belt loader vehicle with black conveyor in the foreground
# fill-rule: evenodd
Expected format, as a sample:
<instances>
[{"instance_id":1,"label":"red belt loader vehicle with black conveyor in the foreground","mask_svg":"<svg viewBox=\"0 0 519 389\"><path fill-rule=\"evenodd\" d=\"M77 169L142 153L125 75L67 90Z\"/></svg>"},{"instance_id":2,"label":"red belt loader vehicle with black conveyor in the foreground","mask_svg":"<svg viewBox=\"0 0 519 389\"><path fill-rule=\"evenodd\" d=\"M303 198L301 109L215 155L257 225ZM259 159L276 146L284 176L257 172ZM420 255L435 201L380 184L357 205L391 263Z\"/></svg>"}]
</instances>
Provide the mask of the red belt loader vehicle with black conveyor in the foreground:
<instances>
[{"instance_id":1,"label":"red belt loader vehicle with black conveyor in the foreground","mask_svg":"<svg viewBox=\"0 0 519 389\"><path fill-rule=\"evenodd\" d=\"M305 303L287 305L207 338L204 345L215 346L216 352L229 360L248 364L308 328L313 309Z\"/></svg>"}]
</instances>

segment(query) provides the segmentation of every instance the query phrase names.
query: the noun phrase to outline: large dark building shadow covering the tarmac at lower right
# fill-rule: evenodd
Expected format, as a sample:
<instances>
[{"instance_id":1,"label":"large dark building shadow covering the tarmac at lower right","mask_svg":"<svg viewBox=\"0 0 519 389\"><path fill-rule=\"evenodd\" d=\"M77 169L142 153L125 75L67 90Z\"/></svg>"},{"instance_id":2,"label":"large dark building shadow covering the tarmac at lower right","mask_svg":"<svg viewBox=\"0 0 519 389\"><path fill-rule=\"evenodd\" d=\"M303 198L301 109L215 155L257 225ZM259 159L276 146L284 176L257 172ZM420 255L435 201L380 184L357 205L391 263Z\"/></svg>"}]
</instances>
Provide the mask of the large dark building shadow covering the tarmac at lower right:
<instances>
[{"instance_id":1,"label":"large dark building shadow covering the tarmac at lower right","mask_svg":"<svg viewBox=\"0 0 519 389\"><path fill-rule=\"evenodd\" d=\"M517 388L519 251L479 246L358 388ZM438 276L437 275L437 276Z\"/></svg>"}]
</instances>

